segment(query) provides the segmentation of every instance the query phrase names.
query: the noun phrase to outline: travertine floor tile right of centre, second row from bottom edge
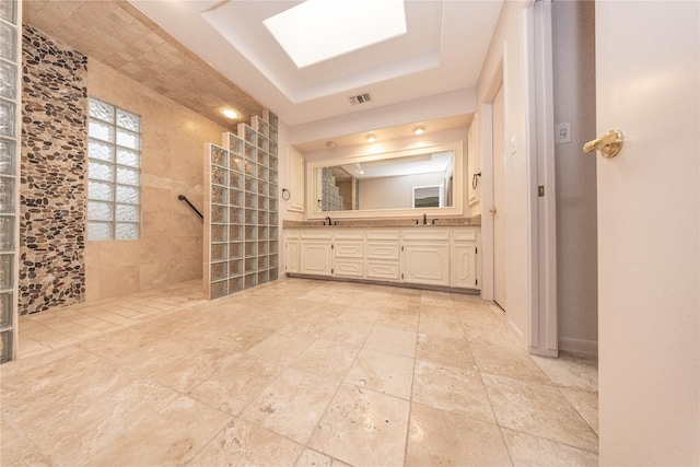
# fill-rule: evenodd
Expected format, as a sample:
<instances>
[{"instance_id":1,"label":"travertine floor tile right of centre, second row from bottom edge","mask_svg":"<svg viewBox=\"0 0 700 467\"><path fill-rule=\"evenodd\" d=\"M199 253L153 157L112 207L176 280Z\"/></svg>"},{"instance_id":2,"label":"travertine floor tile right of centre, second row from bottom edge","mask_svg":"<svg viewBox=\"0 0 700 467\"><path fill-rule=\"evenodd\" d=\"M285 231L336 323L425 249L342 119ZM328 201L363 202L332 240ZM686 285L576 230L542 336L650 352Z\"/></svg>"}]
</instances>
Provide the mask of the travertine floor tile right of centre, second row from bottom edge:
<instances>
[{"instance_id":1,"label":"travertine floor tile right of centre, second row from bottom edge","mask_svg":"<svg viewBox=\"0 0 700 467\"><path fill-rule=\"evenodd\" d=\"M416 360L413 402L495 423L476 366L460 369Z\"/></svg>"}]
</instances>

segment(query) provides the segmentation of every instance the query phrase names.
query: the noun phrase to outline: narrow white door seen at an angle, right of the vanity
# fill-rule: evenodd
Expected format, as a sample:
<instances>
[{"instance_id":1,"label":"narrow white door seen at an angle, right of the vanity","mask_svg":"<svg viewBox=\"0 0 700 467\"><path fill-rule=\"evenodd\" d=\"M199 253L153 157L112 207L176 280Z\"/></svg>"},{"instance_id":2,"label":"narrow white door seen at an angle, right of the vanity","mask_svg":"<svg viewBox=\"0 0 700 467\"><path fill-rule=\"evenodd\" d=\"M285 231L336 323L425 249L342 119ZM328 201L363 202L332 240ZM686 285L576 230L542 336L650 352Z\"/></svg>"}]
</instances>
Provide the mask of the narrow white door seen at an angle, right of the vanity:
<instances>
[{"instance_id":1,"label":"narrow white door seen at an angle, right of the vanity","mask_svg":"<svg viewBox=\"0 0 700 467\"><path fill-rule=\"evenodd\" d=\"M493 97L493 301L505 303L505 116L503 86Z\"/></svg>"}]
</instances>

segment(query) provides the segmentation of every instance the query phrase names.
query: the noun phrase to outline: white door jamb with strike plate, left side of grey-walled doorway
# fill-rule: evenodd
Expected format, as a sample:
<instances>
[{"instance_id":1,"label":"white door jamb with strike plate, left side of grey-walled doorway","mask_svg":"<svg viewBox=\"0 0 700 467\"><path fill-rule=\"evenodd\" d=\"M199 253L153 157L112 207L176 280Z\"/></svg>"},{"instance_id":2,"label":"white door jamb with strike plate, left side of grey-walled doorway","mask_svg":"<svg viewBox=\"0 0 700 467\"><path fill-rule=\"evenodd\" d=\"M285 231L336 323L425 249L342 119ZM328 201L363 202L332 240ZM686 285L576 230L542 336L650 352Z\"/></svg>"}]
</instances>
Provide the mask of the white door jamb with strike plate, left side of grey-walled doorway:
<instances>
[{"instance_id":1,"label":"white door jamb with strike plate, left side of grey-walled doorway","mask_svg":"<svg viewBox=\"0 0 700 467\"><path fill-rule=\"evenodd\" d=\"M523 78L528 155L529 215L529 352L558 357L557 329L557 185L552 0L523 11ZM544 196L539 192L544 190Z\"/></svg>"}]
</instances>

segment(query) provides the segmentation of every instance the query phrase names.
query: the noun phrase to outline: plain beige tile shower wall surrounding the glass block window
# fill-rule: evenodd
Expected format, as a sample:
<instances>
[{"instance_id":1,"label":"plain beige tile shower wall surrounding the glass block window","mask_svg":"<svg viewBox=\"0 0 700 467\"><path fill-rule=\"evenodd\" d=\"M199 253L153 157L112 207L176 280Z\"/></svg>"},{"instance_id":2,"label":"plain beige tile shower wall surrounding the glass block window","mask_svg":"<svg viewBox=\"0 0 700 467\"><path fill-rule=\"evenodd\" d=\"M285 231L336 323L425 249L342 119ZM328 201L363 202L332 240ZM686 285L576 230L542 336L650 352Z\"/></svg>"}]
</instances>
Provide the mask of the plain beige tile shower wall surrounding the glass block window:
<instances>
[{"instance_id":1,"label":"plain beige tile shower wall surrounding the glass block window","mask_svg":"<svg viewBox=\"0 0 700 467\"><path fill-rule=\"evenodd\" d=\"M141 237L88 242L86 300L202 278L202 147L226 128L89 58L90 96L141 116Z\"/></svg>"}]
</instances>

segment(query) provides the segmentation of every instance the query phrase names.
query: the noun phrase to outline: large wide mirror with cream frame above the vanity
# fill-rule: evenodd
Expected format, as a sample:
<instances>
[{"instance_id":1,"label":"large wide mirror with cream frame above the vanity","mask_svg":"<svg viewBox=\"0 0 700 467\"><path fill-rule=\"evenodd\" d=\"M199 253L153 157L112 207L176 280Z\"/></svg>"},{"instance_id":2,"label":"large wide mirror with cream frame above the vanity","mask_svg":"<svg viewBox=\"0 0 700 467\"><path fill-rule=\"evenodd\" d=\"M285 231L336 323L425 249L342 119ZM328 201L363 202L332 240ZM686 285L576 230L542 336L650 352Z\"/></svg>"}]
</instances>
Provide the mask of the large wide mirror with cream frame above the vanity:
<instances>
[{"instance_id":1,"label":"large wide mirror with cream frame above the vanity","mask_svg":"<svg viewBox=\"0 0 700 467\"><path fill-rule=\"evenodd\" d=\"M463 214L462 141L307 165L310 219Z\"/></svg>"}]
</instances>

